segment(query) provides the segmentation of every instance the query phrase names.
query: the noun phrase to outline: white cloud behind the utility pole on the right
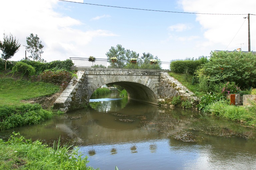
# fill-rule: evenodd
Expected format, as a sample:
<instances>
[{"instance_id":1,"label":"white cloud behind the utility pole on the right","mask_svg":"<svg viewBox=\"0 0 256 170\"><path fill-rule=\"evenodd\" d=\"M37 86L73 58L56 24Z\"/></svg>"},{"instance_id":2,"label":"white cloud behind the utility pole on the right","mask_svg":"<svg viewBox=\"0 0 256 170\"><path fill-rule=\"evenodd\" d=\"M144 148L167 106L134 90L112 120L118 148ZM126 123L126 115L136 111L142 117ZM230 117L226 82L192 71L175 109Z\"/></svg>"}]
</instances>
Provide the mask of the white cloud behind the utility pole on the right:
<instances>
[{"instance_id":1,"label":"white cloud behind the utility pole on the right","mask_svg":"<svg viewBox=\"0 0 256 170\"><path fill-rule=\"evenodd\" d=\"M201 28L202 31L204 32L204 37L207 40L207 42L202 43L201 46L208 45L208 48L211 48L211 46L219 44L221 46L221 49L219 50L234 50L240 47L240 43L244 43L244 45L242 46L242 50L248 50L248 21L246 20L244 23L245 19L243 19L243 17L246 17L248 13L256 13L255 0L248 0L245 3L241 3L240 0L180 0L179 2L182 4L185 12L214 14L245 14L196 14L196 21L198 21L202 26ZM251 16L250 29L253 30L251 31L251 50L255 50L256 48L256 32L254 31L256 30L255 21L256 17ZM238 32L240 27L241 29ZM231 42L233 38L234 40ZM229 43L230 45L228 46Z\"/></svg>"}]
</instances>

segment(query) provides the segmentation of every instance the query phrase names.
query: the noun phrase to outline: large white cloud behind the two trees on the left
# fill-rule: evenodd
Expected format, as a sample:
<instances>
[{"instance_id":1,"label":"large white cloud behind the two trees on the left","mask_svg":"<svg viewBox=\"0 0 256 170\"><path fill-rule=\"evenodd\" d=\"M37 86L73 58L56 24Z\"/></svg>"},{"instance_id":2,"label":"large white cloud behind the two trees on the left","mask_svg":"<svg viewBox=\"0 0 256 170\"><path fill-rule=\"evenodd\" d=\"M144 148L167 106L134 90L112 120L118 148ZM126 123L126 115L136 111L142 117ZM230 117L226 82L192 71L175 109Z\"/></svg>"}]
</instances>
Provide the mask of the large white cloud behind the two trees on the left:
<instances>
[{"instance_id":1,"label":"large white cloud behind the two trees on the left","mask_svg":"<svg viewBox=\"0 0 256 170\"><path fill-rule=\"evenodd\" d=\"M69 57L86 56L85 46L96 37L116 36L107 30L81 30L84 23L63 16L54 11L58 0L12 0L3 1L0 5L0 35L11 33L26 45L26 37L37 34L44 45L42 58L47 61L65 60ZM9 8L11 7L11 11ZM1 40L2 36L0 36ZM25 47L12 57L20 60L25 57Z\"/></svg>"}]
</instances>

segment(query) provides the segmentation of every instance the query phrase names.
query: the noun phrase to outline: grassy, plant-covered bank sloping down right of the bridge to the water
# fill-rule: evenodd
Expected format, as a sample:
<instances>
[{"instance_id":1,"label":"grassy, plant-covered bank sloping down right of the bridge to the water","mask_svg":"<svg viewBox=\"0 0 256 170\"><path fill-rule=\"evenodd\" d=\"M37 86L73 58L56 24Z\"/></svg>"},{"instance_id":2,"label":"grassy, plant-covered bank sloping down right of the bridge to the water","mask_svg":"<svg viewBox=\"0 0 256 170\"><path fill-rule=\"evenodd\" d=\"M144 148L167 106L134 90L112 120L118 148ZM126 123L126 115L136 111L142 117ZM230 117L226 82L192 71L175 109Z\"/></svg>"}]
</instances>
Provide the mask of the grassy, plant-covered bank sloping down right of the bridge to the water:
<instances>
[{"instance_id":1,"label":"grassy, plant-covered bank sloping down right of the bridge to the water","mask_svg":"<svg viewBox=\"0 0 256 170\"><path fill-rule=\"evenodd\" d=\"M192 75L172 73L169 75L177 79L181 84L186 86L196 96L200 97L201 102L198 105L199 109L206 114L212 114L218 117L227 118L233 121L243 122L248 126L256 126L256 104L251 106L230 106L229 100L221 93L208 93L200 91L199 84L192 85Z\"/></svg>"}]
</instances>

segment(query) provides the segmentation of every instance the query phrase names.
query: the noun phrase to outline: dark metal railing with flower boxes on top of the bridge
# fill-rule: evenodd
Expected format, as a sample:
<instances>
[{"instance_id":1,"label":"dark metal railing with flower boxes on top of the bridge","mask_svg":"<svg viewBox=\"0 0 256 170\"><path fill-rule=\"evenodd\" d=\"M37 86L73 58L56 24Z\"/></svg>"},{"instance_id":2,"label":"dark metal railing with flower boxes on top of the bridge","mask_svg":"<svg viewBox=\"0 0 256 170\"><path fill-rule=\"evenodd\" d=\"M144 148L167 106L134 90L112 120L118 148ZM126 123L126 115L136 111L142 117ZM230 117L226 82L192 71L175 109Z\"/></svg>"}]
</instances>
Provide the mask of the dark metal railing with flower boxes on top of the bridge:
<instances>
[{"instance_id":1,"label":"dark metal railing with flower boxes on top of the bridge","mask_svg":"<svg viewBox=\"0 0 256 170\"><path fill-rule=\"evenodd\" d=\"M77 67L103 67L103 68L132 68L132 69L154 69L170 70L170 62L150 62L150 61L127 61L127 60L109 60L95 59L89 61L89 58L70 57L70 60Z\"/></svg>"}]
</instances>

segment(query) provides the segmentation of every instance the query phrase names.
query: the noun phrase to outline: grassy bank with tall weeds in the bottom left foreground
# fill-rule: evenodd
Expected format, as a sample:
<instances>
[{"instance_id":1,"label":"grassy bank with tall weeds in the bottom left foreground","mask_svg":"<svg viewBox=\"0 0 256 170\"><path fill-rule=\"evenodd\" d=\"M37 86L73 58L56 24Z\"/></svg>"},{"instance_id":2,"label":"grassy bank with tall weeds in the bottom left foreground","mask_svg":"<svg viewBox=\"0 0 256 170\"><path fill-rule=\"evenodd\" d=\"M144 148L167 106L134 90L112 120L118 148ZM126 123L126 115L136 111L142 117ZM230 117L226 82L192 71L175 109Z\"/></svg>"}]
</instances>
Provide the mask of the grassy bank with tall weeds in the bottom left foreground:
<instances>
[{"instance_id":1,"label":"grassy bank with tall weeds in the bottom left foreground","mask_svg":"<svg viewBox=\"0 0 256 170\"><path fill-rule=\"evenodd\" d=\"M82 158L78 149L70 146L60 147L60 141L54 147L32 142L14 133L6 142L0 139L0 169L44 169L44 170L93 170L86 166L87 157Z\"/></svg>"}]
</instances>

